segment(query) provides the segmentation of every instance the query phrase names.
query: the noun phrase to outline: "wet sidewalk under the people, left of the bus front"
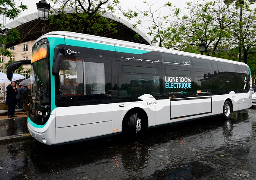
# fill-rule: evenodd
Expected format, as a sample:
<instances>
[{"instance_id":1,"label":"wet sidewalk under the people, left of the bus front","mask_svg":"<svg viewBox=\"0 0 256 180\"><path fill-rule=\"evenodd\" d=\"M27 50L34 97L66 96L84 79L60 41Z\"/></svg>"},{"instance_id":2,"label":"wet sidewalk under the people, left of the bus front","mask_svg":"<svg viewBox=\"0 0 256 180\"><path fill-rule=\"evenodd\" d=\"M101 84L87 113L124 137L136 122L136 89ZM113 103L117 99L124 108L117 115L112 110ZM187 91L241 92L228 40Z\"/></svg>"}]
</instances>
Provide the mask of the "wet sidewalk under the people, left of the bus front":
<instances>
[{"instance_id":1,"label":"wet sidewalk under the people, left of the bus front","mask_svg":"<svg viewBox=\"0 0 256 180\"><path fill-rule=\"evenodd\" d=\"M0 114L0 143L31 137L26 128L26 113L16 111L15 115L16 118L8 118L7 113Z\"/></svg>"}]
</instances>

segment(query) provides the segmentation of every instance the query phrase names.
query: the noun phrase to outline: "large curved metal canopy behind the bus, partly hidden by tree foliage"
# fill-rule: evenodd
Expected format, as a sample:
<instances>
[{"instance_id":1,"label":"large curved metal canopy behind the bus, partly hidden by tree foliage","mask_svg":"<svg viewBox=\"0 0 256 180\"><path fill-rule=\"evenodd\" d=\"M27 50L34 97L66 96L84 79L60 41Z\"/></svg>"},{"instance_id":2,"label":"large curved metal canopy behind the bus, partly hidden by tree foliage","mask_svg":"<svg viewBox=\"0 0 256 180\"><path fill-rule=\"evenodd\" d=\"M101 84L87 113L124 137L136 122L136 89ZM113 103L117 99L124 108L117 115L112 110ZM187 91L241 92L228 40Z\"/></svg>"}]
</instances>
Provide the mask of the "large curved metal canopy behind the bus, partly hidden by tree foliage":
<instances>
[{"instance_id":1,"label":"large curved metal canopy behind the bus, partly hidden by tree foliage","mask_svg":"<svg viewBox=\"0 0 256 180\"><path fill-rule=\"evenodd\" d=\"M57 15L55 16L57 17ZM139 29L133 28L133 26L129 22L123 19L119 19L110 14L107 14L103 17L115 21L116 30L118 31L118 33L113 34L112 31L103 31L101 34L99 34L99 36L151 45L151 40ZM6 23L4 26L7 29L7 34L8 29L10 28L18 29L20 33L19 40L16 40L14 43L5 44L6 47L8 48L20 43L36 40L38 37L42 35L41 20L38 19L37 12L31 13L26 16L22 16L16 20ZM49 25L49 22L46 22L46 33L59 30L60 28L57 24ZM139 35L137 39L134 38L136 34Z\"/></svg>"}]
</instances>

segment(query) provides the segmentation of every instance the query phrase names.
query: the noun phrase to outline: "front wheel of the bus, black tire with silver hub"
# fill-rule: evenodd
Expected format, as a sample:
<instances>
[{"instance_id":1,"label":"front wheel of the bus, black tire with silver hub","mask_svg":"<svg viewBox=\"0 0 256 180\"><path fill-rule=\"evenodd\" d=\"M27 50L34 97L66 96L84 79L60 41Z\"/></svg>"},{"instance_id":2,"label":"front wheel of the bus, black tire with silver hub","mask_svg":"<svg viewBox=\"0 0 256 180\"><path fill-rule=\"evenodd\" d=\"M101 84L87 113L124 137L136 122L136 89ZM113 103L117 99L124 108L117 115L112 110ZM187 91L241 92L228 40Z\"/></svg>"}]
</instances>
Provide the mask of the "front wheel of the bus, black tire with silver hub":
<instances>
[{"instance_id":1,"label":"front wheel of the bus, black tire with silver hub","mask_svg":"<svg viewBox=\"0 0 256 180\"><path fill-rule=\"evenodd\" d=\"M131 112L128 118L127 135L132 139L136 139L141 131L141 119L138 112Z\"/></svg>"}]
</instances>

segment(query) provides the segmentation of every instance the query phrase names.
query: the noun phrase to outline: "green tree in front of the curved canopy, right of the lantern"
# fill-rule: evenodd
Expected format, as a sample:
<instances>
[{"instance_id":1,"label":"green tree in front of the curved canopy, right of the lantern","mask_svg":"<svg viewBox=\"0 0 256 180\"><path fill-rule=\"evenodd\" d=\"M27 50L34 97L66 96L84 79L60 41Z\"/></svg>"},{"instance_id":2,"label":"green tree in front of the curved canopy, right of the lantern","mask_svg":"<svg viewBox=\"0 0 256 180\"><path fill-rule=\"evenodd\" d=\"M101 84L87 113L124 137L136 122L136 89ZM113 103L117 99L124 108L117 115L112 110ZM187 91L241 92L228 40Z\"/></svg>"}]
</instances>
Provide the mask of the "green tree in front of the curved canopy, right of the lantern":
<instances>
[{"instance_id":1,"label":"green tree in front of the curved canopy, right of the lantern","mask_svg":"<svg viewBox=\"0 0 256 180\"><path fill-rule=\"evenodd\" d=\"M50 0L53 7L50 24L57 24L63 31L97 35L104 30L116 33L115 22L103 17L121 9L119 0Z\"/></svg>"}]
</instances>

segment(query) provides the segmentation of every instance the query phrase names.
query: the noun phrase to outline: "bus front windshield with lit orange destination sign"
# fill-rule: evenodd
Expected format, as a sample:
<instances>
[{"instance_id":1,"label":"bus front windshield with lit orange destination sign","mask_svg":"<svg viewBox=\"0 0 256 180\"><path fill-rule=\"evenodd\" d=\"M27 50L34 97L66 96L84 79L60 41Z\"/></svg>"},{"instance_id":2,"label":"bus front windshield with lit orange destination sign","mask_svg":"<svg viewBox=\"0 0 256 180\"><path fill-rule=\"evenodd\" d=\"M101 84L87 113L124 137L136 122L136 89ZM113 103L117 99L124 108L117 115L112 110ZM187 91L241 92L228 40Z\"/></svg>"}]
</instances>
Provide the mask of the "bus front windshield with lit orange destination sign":
<instances>
[{"instance_id":1,"label":"bus front windshield with lit orange destination sign","mask_svg":"<svg viewBox=\"0 0 256 180\"><path fill-rule=\"evenodd\" d=\"M37 105L50 104L50 79L48 41L43 39L34 44L31 64L31 101L35 99ZM32 102L33 103L33 102ZM34 103L33 103L34 104ZM35 104L34 104L35 105Z\"/></svg>"}]
</instances>

